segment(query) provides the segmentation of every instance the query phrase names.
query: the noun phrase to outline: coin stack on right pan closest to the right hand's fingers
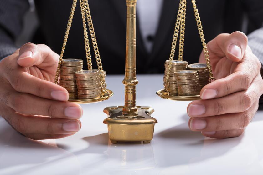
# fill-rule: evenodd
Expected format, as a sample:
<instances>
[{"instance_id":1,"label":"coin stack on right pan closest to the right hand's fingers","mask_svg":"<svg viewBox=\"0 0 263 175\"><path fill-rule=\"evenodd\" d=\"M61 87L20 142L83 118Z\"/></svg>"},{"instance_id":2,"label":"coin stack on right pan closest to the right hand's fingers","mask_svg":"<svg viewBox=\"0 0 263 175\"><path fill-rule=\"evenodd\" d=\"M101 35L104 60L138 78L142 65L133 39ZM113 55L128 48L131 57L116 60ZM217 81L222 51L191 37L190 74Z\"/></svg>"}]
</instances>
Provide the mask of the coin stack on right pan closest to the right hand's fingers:
<instances>
[{"instance_id":1,"label":"coin stack on right pan closest to the right hand's fingers","mask_svg":"<svg viewBox=\"0 0 263 175\"><path fill-rule=\"evenodd\" d=\"M201 88L209 83L209 69L206 64L195 63L188 65L189 70L196 70L199 75Z\"/></svg>"}]
</instances>

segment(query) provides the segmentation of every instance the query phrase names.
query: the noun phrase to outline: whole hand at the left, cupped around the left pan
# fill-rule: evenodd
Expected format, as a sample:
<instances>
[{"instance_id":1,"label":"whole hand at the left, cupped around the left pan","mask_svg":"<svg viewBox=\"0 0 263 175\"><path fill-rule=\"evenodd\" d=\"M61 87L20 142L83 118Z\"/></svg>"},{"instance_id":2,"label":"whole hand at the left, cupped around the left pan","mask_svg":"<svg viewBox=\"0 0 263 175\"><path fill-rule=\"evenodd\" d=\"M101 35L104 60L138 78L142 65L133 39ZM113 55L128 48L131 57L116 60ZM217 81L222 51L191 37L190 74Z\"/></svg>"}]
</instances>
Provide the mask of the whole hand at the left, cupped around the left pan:
<instances>
[{"instance_id":1,"label":"whole hand at the left, cupped around the left pan","mask_svg":"<svg viewBox=\"0 0 263 175\"><path fill-rule=\"evenodd\" d=\"M0 62L0 116L28 138L63 138L81 128L82 108L52 83L58 61L46 45L27 43Z\"/></svg>"}]
</instances>

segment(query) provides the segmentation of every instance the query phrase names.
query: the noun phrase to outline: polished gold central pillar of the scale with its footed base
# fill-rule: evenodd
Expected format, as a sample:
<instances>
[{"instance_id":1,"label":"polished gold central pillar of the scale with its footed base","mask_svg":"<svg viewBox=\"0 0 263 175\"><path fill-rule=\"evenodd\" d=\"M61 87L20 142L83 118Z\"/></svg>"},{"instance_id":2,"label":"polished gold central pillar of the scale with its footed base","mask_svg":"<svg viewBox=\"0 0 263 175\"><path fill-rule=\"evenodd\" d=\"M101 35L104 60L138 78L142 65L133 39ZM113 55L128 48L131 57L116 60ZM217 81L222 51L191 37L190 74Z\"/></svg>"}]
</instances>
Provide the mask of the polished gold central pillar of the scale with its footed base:
<instances>
[{"instance_id":1,"label":"polished gold central pillar of the scale with its footed base","mask_svg":"<svg viewBox=\"0 0 263 175\"><path fill-rule=\"evenodd\" d=\"M139 142L150 143L153 137L155 118L149 106L136 106L136 2L126 0L127 29L126 29L126 64L124 106L111 106L103 110L109 117L103 123L108 125L111 143Z\"/></svg>"}]
</instances>

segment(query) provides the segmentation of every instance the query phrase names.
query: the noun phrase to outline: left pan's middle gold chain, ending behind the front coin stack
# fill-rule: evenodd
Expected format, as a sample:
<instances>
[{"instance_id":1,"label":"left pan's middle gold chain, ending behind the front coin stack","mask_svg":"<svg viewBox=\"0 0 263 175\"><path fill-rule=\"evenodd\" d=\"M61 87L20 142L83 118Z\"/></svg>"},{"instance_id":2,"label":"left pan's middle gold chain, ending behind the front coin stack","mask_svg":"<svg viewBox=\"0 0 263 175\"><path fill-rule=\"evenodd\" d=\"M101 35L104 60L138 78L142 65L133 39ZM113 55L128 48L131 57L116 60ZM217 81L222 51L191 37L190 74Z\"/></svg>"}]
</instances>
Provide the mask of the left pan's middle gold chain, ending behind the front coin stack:
<instances>
[{"instance_id":1,"label":"left pan's middle gold chain, ending behind the front coin stack","mask_svg":"<svg viewBox=\"0 0 263 175\"><path fill-rule=\"evenodd\" d=\"M80 0L80 10L82 15L82 22L83 22L83 30L84 30L84 39L85 39L85 50L86 50L86 58L88 63L88 69L92 69L92 63L91 63L91 55L90 55L90 43L88 39L88 32L86 28L86 17L85 17L85 6L83 0Z\"/></svg>"}]
</instances>

